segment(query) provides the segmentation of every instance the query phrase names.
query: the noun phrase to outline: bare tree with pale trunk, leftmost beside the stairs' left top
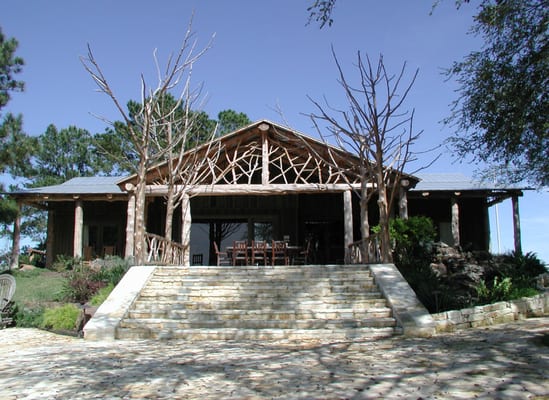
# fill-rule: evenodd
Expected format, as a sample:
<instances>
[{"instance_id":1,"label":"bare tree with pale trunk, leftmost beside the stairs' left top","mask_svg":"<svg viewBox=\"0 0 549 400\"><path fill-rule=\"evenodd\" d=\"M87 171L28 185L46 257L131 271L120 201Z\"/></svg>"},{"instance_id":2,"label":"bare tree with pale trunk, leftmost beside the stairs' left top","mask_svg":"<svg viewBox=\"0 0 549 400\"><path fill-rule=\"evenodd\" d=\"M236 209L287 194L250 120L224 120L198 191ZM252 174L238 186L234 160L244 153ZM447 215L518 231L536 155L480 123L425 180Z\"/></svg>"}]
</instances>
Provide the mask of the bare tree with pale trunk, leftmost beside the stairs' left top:
<instances>
[{"instance_id":1,"label":"bare tree with pale trunk, leftmost beside the stairs' left top","mask_svg":"<svg viewBox=\"0 0 549 400\"><path fill-rule=\"evenodd\" d=\"M183 79L190 76L194 63L206 52L210 47L210 43L200 51L196 51L196 41L193 40L191 30L192 21L188 25L185 37L175 57L170 57L164 72L161 72L160 65L154 56L155 64L158 73L158 84L156 88L150 89L145 82L144 77L141 77L141 102L139 108L134 115L130 115L122 106L122 103L114 94L108 83L103 71L96 61L91 48L88 46L88 56L82 58L82 63L85 69L98 85L99 90L105 93L114 103L116 109L122 116L127 139L131 144L132 150L138 157L136 167L136 184L135 184L135 225L134 225L134 245L133 256L137 264L142 264L145 260L146 245L145 245L145 194L146 194L146 175L149 168L159 161L165 160L171 151L174 151L179 146L183 139L178 136L170 145L160 149L157 143L159 142L158 135L166 134L166 121L172 119L170 113L173 110L166 109L162 106L163 99L167 94L183 83L184 88L181 90L185 94L185 88L188 85L188 79ZM183 98L183 97L181 97ZM177 135L184 134L183 131L176 132ZM164 137L165 140L165 137ZM165 142L166 143L166 142ZM128 255L127 255L128 256Z\"/></svg>"}]
</instances>

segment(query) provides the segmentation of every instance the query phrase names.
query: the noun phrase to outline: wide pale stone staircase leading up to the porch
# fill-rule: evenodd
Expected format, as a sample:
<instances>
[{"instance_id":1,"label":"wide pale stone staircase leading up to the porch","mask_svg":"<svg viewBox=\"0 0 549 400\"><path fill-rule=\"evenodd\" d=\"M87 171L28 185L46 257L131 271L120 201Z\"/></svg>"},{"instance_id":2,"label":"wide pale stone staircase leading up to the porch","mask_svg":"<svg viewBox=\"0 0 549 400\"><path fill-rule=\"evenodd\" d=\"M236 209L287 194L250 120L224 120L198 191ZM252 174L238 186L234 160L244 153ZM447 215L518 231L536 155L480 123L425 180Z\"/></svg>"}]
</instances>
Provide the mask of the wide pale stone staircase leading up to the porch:
<instances>
[{"instance_id":1,"label":"wide pale stone staircase leading up to the porch","mask_svg":"<svg viewBox=\"0 0 549 400\"><path fill-rule=\"evenodd\" d=\"M118 339L369 340L399 333L362 266L158 267Z\"/></svg>"}]
</instances>

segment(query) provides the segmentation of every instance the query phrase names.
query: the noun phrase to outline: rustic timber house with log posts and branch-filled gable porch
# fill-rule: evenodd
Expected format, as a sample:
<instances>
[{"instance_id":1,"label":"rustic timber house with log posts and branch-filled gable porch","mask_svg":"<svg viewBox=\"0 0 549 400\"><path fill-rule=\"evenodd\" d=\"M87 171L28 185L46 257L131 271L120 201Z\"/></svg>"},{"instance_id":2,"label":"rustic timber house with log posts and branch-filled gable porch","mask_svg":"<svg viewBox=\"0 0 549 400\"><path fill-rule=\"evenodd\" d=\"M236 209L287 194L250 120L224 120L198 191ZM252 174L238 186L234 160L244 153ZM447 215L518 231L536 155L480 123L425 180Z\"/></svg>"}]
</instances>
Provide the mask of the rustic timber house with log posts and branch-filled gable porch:
<instances>
[{"instance_id":1,"label":"rustic timber house with log posts and branch-filled gable porch","mask_svg":"<svg viewBox=\"0 0 549 400\"><path fill-rule=\"evenodd\" d=\"M354 155L266 120L192 152L202 162L193 167L192 185L178 185L185 197L174 213L172 240L181 243L190 234L190 254L202 255L205 264L213 263L214 241L221 247L235 239L284 239L297 246L312 243L310 261L330 264L347 260L349 245L360 240L355 193L360 187L359 160ZM164 232L166 167L155 166L147 175L149 255L161 246ZM47 210L46 263L50 265L58 255L132 257L135 187L135 176L74 178L11 196L19 204ZM512 198L520 248L517 199L521 195L520 189L487 186L461 175L404 174L391 212L431 217L441 240L488 250L488 208ZM370 226L378 222L376 207L374 197ZM16 260L19 221L14 232Z\"/></svg>"}]
</instances>

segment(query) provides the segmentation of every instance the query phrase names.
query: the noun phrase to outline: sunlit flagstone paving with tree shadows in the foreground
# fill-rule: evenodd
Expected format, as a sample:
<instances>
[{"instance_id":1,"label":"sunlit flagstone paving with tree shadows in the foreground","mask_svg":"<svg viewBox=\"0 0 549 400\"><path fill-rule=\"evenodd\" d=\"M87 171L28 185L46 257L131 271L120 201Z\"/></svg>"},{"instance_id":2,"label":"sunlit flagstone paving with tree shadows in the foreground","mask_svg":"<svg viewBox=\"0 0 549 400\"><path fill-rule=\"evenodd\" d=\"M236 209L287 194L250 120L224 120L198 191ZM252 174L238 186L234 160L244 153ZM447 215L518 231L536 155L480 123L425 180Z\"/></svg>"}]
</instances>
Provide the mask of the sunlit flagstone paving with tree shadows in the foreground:
<instances>
[{"instance_id":1,"label":"sunlit flagstone paving with tree shadows in the foreground","mask_svg":"<svg viewBox=\"0 0 549 400\"><path fill-rule=\"evenodd\" d=\"M549 318L354 343L0 331L1 399L549 399Z\"/></svg>"}]
</instances>

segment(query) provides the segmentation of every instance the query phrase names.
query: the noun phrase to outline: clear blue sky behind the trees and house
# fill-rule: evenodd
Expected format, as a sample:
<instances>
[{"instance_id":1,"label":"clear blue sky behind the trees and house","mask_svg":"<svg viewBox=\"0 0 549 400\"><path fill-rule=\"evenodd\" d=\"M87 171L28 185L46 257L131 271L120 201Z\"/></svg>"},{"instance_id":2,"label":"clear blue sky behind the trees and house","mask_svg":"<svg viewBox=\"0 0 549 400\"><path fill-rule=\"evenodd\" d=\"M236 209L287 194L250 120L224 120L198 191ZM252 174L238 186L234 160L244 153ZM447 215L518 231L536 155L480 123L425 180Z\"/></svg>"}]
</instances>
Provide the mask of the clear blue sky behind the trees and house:
<instances>
[{"instance_id":1,"label":"clear blue sky behind the trees and house","mask_svg":"<svg viewBox=\"0 0 549 400\"><path fill-rule=\"evenodd\" d=\"M179 49L194 11L193 30L199 47L212 38L211 49L196 63L193 82L203 84L204 110L212 117L234 109L251 120L287 123L315 135L309 118L315 111L307 96L344 105L336 81L330 47L348 71L358 50L376 60L383 54L390 71L404 62L408 76L419 69L407 108L415 109L415 127L424 134L417 150L440 144L451 131L440 121L448 116L455 83L442 74L480 43L467 32L474 4L460 11L453 0L443 1L430 15L432 0L339 0L335 23L320 30L306 26L312 0L107 1L3 0L0 26L19 41L24 58L24 93L15 94L5 111L22 113L25 131L43 133L76 125L92 133L105 123L100 115L117 119L109 99L96 88L79 57L87 45L118 98L125 103L140 96L140 75L156 84L153 51L161 64ZM472 3L475 3L474 1ZM283 117L279 111L283 113ZM476 167L456 162L449 151L426 172L462 172ZM528 191L520 199L523 249L549 261L549 194ZM495 221L494 209L492 220ZM499 248L512 248L510 201L499 207ZM492 226L493 250L498 250Z\"/></svg>"}]
</instances>

